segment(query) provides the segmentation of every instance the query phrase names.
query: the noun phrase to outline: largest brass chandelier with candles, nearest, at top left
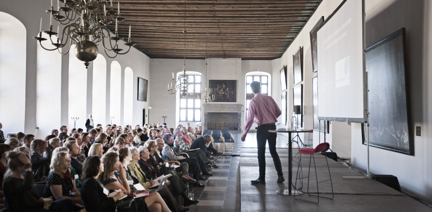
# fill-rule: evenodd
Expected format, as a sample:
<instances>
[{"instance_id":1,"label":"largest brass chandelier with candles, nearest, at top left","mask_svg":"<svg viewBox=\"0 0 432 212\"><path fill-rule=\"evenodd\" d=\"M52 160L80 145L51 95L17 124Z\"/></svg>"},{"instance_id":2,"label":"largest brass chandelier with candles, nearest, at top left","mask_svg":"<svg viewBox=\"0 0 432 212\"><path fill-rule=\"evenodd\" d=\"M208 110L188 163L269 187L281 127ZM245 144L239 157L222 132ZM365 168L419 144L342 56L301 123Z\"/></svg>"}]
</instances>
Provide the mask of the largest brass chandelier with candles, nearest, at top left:
<instances>
[{"instance_id":1,"label":"largest brass chandelier with candles, nearest, at top left","mask_svg":"<svg viewBox=\"0 0 432 212\"><path fill-rule=\"evenodd\" d=\"M110 8L107 10L106 5L110 3ZM117 57L119 54L127 54L131 46L136 45L130 41L130 25L129 25L129 37L124 45L128 46L126 52L121 52L123 49L118 47L118 41L124 40L118 36L118 23L125 21L126 19L120 16L120 3L118 3L118 9L114 10L112 0L72 0L71 3L67 3L64 0L64 6L60 7L59 0L57 0L57 10L54 10L53 0L51 0L51 9L46 10L50 14L50 28L49 31L42 31L42 18L41 26L38 37L33 37L42 48L48 51L58 50L60 54L65 55L69 53L72 41L75 42L75 55L76 57L84 61L86 68L89 66L89 62L96 59L98 55L97 43L102 41L102 46L105 53L107 51L113 51L115 55L110 58ZM53 32L52 19L59 22L62 25L66 25L63 32ZM115 25L114 36L111 36L108 25ZM42 38L42 32L49 35L51 44L54 48L47 48L42 45L42 41L46 41L46 38ZM57 35L57 41L53 41L52 35ZM66 53L62 53L60 48L65 47L69 42L69 47Z\"/></svg>"}]
</instances>

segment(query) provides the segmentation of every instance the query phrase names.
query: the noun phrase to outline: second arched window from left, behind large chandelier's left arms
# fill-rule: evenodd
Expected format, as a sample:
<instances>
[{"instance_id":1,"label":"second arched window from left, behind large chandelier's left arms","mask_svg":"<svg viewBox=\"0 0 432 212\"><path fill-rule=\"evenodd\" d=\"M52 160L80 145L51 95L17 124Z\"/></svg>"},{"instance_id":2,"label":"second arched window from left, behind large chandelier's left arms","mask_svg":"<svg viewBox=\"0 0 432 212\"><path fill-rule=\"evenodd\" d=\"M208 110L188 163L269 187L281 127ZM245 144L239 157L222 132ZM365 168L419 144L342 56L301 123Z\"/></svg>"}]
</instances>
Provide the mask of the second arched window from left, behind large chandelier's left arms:
<instances>
[{"instance_id":1,"label":"second arched window from left, behind large chandelier's left arms","mask_svg":"<svg viewBox=\"0 0 432 212\"><path fill-rule=\"evenodd\" d=\"M42 33L43 46L52 46L49 35ZM51 36L55 41L57 37ZM60 127L60 87L61 87L61 54L44 50L39 43L37 47L36 70L36 126L37 138L51 135L52 129ZM60 49L61 51L61 49Z\"/></svg>"}]
</instances>

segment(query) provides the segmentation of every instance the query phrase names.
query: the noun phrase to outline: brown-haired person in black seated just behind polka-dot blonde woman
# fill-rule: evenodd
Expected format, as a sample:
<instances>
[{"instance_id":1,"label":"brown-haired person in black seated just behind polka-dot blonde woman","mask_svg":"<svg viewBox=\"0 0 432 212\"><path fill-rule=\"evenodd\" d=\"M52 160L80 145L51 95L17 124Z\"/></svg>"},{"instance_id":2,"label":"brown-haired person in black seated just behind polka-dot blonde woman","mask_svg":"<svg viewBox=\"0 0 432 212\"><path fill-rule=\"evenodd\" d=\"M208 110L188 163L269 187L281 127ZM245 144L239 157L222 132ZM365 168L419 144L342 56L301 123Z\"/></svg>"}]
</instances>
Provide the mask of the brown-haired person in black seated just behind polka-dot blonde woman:
<instances>
[{"instance_id":1,"label":"brown-haired person in black seated just behind polka-dot blonde woman","mask_svg":"<svg viewBox=\"0 0 432 212\"><path fill-rule=\"evenodd\" d=\"M52 152L51 149L48 147L48 142L41 139L33 140L30 146L33 150L32 155L30 155L30 158L32 158L32 171L35 174L34 177L37 180L40 180L42 179L42 177L46 177L50 172ZM42 153L44 152L44 150L47 155L46 157L42 157Z\"/></svg>"}]
</instances>

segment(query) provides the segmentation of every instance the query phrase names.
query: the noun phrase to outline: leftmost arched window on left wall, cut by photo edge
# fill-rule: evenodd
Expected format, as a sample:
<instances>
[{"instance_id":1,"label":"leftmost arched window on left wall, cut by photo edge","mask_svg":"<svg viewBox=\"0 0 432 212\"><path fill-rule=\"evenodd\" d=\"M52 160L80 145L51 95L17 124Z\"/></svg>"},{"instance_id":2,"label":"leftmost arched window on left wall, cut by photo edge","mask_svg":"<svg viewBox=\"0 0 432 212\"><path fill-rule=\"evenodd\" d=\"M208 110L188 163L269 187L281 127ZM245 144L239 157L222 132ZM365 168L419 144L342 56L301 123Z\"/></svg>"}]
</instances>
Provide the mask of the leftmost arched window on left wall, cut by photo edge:
<instances>
[{"instance_id":1,"label":"leftmost arched window on left wall, cut by photo edge","mask_svg":"<svg viewBox=\"0 0 432 212\"><path fill-rule=\"evenodd\" d=\"M0 12L0 122L5 137L24 132L26 34L22 22Z\"/></svg>"}]
</instances>

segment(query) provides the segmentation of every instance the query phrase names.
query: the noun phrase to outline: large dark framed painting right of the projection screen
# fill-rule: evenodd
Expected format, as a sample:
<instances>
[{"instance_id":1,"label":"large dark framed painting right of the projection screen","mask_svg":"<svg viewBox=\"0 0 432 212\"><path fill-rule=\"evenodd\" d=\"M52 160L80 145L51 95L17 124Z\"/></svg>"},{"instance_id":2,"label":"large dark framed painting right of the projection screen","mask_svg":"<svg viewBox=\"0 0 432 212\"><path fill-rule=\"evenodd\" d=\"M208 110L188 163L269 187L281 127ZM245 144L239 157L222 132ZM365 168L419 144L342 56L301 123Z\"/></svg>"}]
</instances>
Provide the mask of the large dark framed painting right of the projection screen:
<instances>
[{"instance_id":1,"label":"large dark framed painting right of the projection screen","mask_svg":"<svg viewBox=\"0 0 432 212\"><path fill-rule=\"evenodd\" d=\"M405 28L366 49L369 145L413 155L405 61Z\"/></svg>"}]
</instances>

